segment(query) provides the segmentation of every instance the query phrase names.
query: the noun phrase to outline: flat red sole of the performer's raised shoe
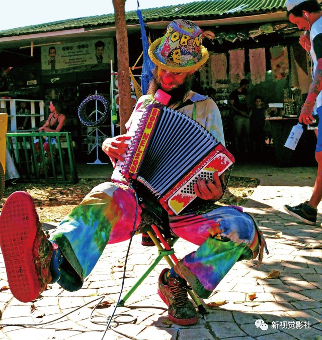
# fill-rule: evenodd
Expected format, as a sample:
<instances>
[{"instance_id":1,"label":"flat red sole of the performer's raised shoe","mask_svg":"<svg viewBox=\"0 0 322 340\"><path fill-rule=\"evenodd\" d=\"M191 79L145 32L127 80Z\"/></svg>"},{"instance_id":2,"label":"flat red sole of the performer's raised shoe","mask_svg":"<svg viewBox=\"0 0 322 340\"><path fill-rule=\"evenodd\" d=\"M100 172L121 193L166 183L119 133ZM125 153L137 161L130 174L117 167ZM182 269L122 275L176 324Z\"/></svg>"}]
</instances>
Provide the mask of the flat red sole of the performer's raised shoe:
<instances>
[{"instance_id":1,"label":"flat red sole of the performer's raised shoe","mask_svg":"<svg viewBox=\"0 0 322 340\"><path fill-rule=\"evenodd\" d=\"M32 301L41 290L32 253L38 222L32 197L24 191L11 194L0 221L0 246L10 290L19 301Z\"/></svg>"}]
</instances>

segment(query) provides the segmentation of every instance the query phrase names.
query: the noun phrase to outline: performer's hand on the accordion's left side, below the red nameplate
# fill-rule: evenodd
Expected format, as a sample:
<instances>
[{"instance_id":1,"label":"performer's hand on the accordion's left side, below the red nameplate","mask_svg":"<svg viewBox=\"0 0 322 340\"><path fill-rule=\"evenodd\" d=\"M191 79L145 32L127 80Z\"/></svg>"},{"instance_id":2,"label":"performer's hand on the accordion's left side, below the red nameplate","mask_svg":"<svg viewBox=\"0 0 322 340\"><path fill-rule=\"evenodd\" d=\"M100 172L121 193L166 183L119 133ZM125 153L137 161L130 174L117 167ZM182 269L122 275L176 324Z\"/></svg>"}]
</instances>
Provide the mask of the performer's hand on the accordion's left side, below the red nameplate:
<instances>
[{"instance_id":1,"label":"performer's hand on the accordion's left side, below the red nameplate","mask_svg":"<svg viewBox=\"0 0 322 340\"><path fill-rule=\"evenodd\" d=\"M116 159L123 162L128 149L128 142L131 136L120 135L107 138L102 145L103 151L109 156L113 167L116 167Z\"/></svg>"}]
</instances>

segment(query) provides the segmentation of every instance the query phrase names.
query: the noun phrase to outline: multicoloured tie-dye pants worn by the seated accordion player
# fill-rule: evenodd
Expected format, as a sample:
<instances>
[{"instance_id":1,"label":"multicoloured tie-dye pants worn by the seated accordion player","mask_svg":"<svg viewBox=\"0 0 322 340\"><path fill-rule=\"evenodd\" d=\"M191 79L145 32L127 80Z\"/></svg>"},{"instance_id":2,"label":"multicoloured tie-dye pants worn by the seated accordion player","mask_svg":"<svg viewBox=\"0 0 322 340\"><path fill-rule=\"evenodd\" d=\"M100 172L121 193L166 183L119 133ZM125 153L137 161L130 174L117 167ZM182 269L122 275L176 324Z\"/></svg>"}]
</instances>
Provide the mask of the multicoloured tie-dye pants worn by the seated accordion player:
<instances>
[{"instance_id":1,"label":"multicoloured tie-dye pants worn by the seated accordion player","mask_svg":"<svg viewBox=\"0 0 322 340\"><path fill-rule=\"evenodd\" d=\"M58 283L69 291L81 288L106 245L130 239L136 212L138 228L142 208L127 185L106 182L95 187L51 235L64 256ZM260 252L255 221L237 207L169 216L169 224L177 236L199 246L183 263L208 291L236 261L253 259Z\"/></svg>"}]
</instances>

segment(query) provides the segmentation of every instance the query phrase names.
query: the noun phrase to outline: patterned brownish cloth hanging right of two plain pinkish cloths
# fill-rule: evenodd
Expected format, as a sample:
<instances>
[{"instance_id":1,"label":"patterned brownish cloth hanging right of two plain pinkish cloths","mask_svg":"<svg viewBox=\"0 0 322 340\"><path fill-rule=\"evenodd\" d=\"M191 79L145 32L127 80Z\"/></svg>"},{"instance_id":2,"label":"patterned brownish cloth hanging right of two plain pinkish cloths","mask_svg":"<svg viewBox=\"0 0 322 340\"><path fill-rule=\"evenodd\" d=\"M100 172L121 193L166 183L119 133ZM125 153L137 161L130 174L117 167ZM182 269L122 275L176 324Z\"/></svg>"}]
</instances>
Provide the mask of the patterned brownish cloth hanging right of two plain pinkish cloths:
<instances>
[{"instance_id":1,"label":"patterned brownish cloth hanging right of two plain pinkish cloths","mask_svg":"<svg viewBox=\"0 0 322 340\"><path fill-rule=\"evenodd\" d=\"M288 53L286 46L270 48L273 80L281 80L288 75Z\"/></svg>"}]
</instances>

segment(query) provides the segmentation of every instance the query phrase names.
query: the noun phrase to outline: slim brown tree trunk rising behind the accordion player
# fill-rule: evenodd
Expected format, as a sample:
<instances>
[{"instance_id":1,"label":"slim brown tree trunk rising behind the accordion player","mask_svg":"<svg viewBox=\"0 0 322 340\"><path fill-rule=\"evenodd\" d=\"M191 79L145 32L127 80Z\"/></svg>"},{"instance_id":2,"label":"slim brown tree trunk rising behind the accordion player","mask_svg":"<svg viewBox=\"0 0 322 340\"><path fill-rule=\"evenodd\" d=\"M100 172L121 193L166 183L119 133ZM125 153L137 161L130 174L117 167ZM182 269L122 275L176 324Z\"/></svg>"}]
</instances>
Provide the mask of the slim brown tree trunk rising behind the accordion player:
<instances>
[{"instance_id":1,"label":"slim brown tree trunk rising behind the accordion player","mask_svg":"<svg viewBox=\"0 0 322 340\"><path fill-rule=\"evenodd\" d=\"M125 22L126 0L112 0L114 6L117 59L118 59L118 87L121 134L126 133L125 123L131 116L131 85L129 72L129 47L127 42Z\"/></svg>"}]
</instances>

